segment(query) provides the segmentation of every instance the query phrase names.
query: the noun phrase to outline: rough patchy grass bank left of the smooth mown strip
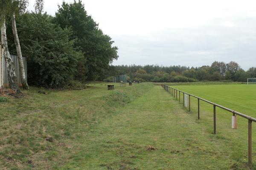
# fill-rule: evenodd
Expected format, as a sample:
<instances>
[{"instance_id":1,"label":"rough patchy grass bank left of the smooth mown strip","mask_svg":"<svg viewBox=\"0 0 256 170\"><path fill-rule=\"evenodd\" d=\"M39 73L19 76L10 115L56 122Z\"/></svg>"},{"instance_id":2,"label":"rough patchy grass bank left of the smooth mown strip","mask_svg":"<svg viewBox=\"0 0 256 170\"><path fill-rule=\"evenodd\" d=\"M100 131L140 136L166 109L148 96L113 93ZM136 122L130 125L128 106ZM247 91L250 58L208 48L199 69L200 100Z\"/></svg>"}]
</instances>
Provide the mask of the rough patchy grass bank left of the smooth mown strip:
<instances>
[{"instance_id":1,"label":"rough patchy grass bank left of the smooth mown strip","mask_svg":"<svg viewBox=\"0 0 256 170\"><path fill-rule=\"evenodd\" d=\"M87 134L152 85L108 91L105 84L82 91L23 91L23 99L0 103L0 169L58 169L88 140ZM81 157L82 159L83 157Z\"/></svg>"}]
</instances>

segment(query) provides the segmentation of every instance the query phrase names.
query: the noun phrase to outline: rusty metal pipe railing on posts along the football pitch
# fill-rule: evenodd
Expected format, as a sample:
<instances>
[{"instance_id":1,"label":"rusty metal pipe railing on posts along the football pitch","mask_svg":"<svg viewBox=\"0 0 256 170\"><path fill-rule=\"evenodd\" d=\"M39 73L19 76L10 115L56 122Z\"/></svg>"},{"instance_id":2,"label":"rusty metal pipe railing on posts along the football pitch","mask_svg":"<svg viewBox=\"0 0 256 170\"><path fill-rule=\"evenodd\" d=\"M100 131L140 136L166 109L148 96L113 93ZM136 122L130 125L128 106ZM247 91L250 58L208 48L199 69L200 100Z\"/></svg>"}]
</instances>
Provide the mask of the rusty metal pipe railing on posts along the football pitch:
<instances>
[{"instance_id":1,"label":"rusty metal pipe railing on posts along the football pitch","mask_svg":"<svg viewBox=\"0 0 256 170\"><path fill-rule=\"evenodd\" d=\"M191 111L190 108L190 96L195 97L196 99L198 99L198 119L200 119L200 100L207 102L211 105L213 105L213 132L214 134L216 134L216 107L224 109L225 111L229 111L231 113L233 113L233 116L238 115L241 117L244 117L245 119L248 120L248 163L251 164L252 163L252 122L256 122L256 119L251 117L251 116L247 116L243 113L237 112L237 111L233 111L229 108L226 108L224 106L218 105L216 103L210 102L206 99L202 99L201 97L186 93L184 91L180 91L176 88L172 88L168 85L163 85L162 87L168 92L170 93L172 96L174 96L174 98L178 98L177 96L179 95L179 102L180 102L180 93L183 93L183 106L184 106L184 94L189 96L189 111ZM179 94L177 94L177 92L179 92Z\"/></svg>"}]
</instances>

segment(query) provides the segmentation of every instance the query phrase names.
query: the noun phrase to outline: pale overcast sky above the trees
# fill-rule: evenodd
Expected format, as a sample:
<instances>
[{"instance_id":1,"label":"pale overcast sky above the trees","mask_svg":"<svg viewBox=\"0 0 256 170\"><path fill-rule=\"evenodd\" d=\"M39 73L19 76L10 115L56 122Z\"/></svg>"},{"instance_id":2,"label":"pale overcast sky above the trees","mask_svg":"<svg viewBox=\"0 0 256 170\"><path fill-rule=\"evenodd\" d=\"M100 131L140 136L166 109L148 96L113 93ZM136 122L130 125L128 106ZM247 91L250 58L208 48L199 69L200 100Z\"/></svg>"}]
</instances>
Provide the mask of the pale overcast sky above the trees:
<instances>
[{"instance_id":1,"label":"pale overcast sky above the trees","mask_svg":"<svg viewBox=\"0 0 256 170\"><path fill-rule=\"evenodd\" d=\"M63 0L44 0L55 15ZM34 10L35 0L29 0ZM73 0L65 0L73 2ZM256 66L255 0L82 0L99 28L115 41L113 65Z\"/></svg>"}]
</instances>

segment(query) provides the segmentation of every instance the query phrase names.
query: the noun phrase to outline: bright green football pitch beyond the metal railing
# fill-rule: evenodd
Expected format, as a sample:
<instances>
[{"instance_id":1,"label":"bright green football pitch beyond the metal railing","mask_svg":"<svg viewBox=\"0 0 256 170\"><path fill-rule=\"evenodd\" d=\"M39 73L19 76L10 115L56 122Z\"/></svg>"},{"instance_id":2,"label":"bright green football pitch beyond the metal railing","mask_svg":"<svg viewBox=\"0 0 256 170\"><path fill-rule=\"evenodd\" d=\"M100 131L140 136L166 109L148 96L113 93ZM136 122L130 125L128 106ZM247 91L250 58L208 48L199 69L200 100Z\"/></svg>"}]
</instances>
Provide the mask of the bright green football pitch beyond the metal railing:
<instances>
[{"instance_id":1,"label":"bright green football pitch beyond the metal railing","mask_svg":"<svg viewBox=\"0 0 256 170\"><path fill-rule=\"evenodd\" d=\"M172 87L256 117L256 85L180 85Z\"/></svg>"}]
</instances>

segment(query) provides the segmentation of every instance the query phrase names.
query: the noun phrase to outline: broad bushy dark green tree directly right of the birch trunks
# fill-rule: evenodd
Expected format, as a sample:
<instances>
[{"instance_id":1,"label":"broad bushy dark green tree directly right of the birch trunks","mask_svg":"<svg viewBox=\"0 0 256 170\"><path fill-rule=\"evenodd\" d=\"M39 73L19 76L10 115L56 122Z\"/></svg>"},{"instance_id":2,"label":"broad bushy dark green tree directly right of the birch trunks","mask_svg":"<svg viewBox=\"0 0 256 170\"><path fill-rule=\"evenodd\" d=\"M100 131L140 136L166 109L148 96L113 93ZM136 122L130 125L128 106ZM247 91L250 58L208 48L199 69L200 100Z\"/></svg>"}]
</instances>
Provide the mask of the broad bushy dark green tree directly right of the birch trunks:
<instances>
[{"instance_id":1,"label":"broad bushy dark green tree directly right of the birch trunks","mask_svg":"<svg viewBox=\"0 0 256 170\"><path fill-rule=\"evenodd\" d=\"M56 26L47 14L26 13L17 23L21 49L28 62L29 84L63 88L83 70L78 77L85 77L84 65L78 67L79 62L84 62L84 57L73 47L75 40L70 40L72 31L69 28ZM14 42L11 44L15 52Z\"/></svg>"}]
</instances>

